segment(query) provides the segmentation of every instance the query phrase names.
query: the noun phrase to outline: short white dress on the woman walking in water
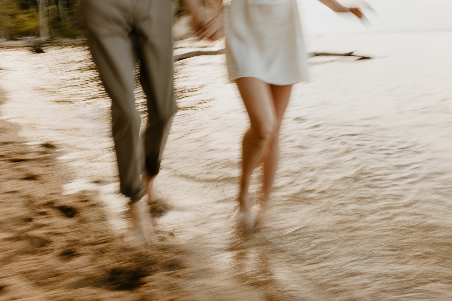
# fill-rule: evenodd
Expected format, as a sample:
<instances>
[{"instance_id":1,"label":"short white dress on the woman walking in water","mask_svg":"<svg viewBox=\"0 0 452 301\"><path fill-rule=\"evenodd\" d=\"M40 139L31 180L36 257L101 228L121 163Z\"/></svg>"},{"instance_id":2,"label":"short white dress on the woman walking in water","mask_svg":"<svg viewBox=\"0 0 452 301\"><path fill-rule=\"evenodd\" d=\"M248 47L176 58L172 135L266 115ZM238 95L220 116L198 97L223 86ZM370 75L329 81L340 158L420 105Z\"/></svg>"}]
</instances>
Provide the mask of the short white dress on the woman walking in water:
<instances>
[{"instance_id":1,"label":"short white dress on the woman walking in water","mask_svg":"<svg viewBox=\"0 0 452 301\"><path fill-rule=\"evenodd\" d=\"M224 24L231 82L245 76L273 85L308 80L297 0L232 0Z\"/></svg>"}]
</instances>

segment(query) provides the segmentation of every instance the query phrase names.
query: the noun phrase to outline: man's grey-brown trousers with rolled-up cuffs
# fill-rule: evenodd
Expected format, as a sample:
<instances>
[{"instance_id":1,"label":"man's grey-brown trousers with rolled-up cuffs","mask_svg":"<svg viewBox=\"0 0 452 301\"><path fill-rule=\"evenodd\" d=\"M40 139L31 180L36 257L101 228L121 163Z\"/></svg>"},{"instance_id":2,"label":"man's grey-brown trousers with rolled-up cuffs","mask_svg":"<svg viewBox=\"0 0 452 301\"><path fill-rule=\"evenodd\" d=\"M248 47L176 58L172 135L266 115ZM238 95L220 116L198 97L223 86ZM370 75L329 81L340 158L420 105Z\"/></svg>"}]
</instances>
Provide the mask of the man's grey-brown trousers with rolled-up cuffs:
<instances>
[{"instance_id":1,"label":"man's grey-brown trousers with rolled-up cuffs","mask_svg":"<svg viewBox=\"0 0 452 301\"><path fill-rule=\"evenodd\" d=\"M112 99L113 140L121 192L132 202L142 196L141 173L155 175L177 111L173 91L171 0L81 0L89 47L105 90ZM148 119L140 140L140 116L133 96L133 69ZM143 158L144 155L144 158Z\"/></svg>"}]
</instances>

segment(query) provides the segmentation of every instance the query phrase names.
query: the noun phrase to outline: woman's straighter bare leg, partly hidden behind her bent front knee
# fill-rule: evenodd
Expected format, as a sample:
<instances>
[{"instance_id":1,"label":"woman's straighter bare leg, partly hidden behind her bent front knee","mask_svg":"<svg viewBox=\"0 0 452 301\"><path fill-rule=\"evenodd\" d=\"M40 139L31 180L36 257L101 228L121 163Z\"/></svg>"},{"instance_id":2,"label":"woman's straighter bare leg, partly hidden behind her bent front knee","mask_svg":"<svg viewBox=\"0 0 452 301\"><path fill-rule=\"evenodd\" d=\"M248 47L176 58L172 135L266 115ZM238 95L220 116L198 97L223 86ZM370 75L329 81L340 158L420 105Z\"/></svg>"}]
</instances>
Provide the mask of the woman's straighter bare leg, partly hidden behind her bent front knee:
<instances>
[{"instance_id":1,"label":"woman's straighter bare leg, partly hidden behind her bent front knee","mask_svg":"<svg viewBox=\"0 0 452 301\"><path fill-rule=\"evenodd\" d=\"M272 192L273 180L275 178L276 168L278 165L279 129L281 127L284 113L286 112L287 104L289 103L292 85L271 85L270 89L272 91L273 103L276 111L276 131L274 136L268 141L267 149L264 157L262 158L262 161L264 162L264 179L262 185L262 196L260 199L258 223L259 221L262 222L263 215L267 208L268 199L270 197L270 193Z\"/></svg>"}]
</instances>

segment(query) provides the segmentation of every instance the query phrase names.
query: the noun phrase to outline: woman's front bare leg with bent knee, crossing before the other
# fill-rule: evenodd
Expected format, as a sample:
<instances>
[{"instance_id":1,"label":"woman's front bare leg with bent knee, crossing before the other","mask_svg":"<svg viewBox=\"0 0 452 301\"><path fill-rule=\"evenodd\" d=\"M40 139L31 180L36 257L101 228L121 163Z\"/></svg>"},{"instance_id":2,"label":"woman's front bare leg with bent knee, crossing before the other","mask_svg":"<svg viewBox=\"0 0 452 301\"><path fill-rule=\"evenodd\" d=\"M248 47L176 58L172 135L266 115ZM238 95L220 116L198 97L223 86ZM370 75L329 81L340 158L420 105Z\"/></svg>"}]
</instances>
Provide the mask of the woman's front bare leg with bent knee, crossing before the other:
<instances>
[{"instance_id":1,"label":"woman's front bare leg with bent knee, crossing before the other","mask_svg":"<svg viewBox=\"0 0 452 301\"><path fill-rule=\"evenodd\" d=\"M248 188L253 170L258 165L276 130L276 112L270 85L253 77L236 80L250 117L250 128L242 143L242 176L240 179L240 212L250 211Z\"/></svg>"}]
</instances>

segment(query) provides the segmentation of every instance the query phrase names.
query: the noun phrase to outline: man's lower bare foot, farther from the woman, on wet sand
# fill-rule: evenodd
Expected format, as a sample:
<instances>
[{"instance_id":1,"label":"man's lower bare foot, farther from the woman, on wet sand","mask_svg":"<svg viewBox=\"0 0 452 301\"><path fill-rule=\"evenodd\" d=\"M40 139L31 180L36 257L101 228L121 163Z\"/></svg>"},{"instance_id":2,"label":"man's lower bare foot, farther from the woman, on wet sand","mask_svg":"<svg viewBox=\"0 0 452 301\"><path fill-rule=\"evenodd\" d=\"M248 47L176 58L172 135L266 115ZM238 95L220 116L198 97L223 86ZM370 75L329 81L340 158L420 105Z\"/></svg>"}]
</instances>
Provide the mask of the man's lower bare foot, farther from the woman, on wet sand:
<instances>
[{"instance_id":1,"label":"man's lower bare foot, farther from the woman, on wet sand","mask_svg":"<svg viewBox=\"0 0 452 301\"><path fill-rule=\"evenodd\" d=\"M148 232L146 226L151 229L151 217L142 202L134 202L130 205L129 213L132 218L132 231L127 235L127 241L133 247L145 247L152 244L152 230Z\"/></svg>"}]
</instances>

